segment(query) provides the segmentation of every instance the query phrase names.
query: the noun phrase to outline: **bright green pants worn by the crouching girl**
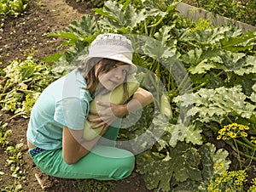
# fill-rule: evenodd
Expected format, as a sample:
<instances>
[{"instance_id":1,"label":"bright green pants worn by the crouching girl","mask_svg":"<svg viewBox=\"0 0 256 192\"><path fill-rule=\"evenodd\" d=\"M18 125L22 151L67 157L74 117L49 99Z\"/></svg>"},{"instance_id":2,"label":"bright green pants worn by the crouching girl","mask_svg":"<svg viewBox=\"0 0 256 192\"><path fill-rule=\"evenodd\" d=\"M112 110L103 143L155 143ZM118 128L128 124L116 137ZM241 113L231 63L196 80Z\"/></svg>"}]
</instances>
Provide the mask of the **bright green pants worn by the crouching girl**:
<instances>
[{"instance_id":1,"label":"bright green pants worn by the crouching girl","mask_svg":"<svg viewBox=\"0 0 256 192\"><path fill-rule=\"evenodd\" d=\"M57 178L95 178L97 180L119 180L131 175L135 158L130 151L114 147L118 128L108 127L104 138L89 154L73 165L67 165L62 149L44 150L31 156L35 164L46 174ZM107 142L106 142L107 141Z\"/></svg>"}]
</instances>

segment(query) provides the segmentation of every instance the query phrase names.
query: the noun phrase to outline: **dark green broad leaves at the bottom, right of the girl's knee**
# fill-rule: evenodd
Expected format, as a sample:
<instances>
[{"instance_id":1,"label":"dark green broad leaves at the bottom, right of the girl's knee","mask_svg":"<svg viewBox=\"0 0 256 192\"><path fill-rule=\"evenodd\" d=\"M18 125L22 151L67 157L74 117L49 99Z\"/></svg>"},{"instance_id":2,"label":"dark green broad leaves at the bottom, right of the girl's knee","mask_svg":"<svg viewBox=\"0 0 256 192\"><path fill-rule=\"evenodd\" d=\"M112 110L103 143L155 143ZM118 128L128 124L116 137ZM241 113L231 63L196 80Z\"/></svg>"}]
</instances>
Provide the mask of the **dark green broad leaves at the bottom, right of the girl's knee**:
<instances>
[{"instance_id":1,"label":"dark green broad leaves at the bottom, right of the girl's knee","mask_svg":"<svg viewBox=\"0 0 256 192\"><path fill-rule=\"evenodd\" d=\"M204 189L212 178L228 169L230 161L226 160L227 156L227 151L216 151L213 144L204 144L196 150L189 144L178 143L166 155L149 151L138 155L137 166L148 189L194 191ZM199 164L202 171L198 169ZM217 165L221 167L217 168Z\"/></svg>"}]
</instances>

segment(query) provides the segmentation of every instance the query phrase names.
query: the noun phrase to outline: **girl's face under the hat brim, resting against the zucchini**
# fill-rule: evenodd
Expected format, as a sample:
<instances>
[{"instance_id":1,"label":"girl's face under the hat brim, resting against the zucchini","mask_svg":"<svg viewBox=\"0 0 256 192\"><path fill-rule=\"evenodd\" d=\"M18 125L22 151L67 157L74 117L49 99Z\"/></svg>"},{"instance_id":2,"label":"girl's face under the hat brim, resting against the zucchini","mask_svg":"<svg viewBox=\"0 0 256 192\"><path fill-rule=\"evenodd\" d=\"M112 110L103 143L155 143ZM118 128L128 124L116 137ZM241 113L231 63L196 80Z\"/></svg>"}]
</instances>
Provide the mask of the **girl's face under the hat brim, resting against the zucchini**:
<instances>
[{"instance_id":1,"label":"girl's face under the hat brim, resting against the zucchini","mask_svg":"<svg viewBox=\"0 0 256 192\"><path fill-rule=\"evenodd\" d=\"M96 66L96 72L102 64ZM130 69L130 65L124 63L117 63L113 65L113 69L106 73L100 73L98 76L99 82L108 91L112 91L125 81L125 77Z\"/></svg>"}]
</instances>

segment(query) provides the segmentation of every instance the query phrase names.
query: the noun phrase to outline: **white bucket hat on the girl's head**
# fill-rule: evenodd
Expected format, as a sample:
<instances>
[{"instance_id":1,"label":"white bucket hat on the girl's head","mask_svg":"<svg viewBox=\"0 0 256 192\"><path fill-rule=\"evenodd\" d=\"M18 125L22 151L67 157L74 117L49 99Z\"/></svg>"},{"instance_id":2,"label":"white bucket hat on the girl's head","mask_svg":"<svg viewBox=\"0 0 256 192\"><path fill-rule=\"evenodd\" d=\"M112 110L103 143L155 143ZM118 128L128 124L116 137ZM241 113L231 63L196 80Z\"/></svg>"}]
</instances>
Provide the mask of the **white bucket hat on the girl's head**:
<instances>
[{"instance_id":1,"label":"white bucket hat on the girl's head","mask_svg":"<svg viewBox=\"0 0 256 192\"><path fill-rule=\"evenodd\" d=\"M100 34L91 42L89 54L84 58L86 63L91 58L107 58L122 61L130 65L130 73L137 71L132 63L133 48L131 41L123 35L106 33Z\"/></svg>"}]
</instances>

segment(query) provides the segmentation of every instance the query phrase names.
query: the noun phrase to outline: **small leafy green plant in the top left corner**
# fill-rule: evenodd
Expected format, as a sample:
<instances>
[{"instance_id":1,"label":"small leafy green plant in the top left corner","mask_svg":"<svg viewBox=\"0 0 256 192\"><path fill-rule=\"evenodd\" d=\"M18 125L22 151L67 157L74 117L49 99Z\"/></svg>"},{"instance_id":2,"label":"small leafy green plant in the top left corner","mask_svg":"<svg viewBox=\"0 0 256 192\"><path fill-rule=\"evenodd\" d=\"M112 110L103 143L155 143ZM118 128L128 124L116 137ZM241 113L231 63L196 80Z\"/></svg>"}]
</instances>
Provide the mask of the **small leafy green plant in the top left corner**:
<instances>
[{"instance_id":1,"label":"small leafy green plant in the top left corner","mask_svg":"<svg viewBox=\"0 0 256 192\"><path fill-rule=\"evenodd\" d=\"M0 14L15 16L22 14L28 6L29 0L1 0Z\"/></svg>"}]
</instances>

